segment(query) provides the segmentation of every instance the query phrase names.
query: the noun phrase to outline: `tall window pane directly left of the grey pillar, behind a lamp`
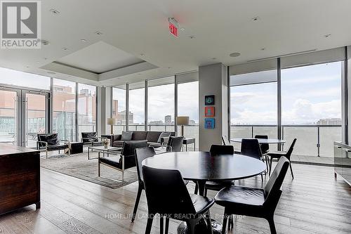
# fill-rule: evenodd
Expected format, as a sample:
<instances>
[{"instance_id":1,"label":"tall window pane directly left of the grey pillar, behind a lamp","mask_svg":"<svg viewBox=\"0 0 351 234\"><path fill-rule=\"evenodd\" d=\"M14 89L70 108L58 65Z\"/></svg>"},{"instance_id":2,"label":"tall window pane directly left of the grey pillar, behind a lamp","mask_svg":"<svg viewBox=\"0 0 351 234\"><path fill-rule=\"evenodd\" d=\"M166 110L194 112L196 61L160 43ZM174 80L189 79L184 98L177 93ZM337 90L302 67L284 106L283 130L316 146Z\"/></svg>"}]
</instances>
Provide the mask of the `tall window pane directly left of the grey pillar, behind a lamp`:
<instances>
[{"instance_id":1,"label":"tall window pane directly left of the grey pillar, behind a lamp","mask_svg":"<svg viewBox=\"0 0 351 234\"><path fill-rule=\"evenodd\" d=\"M178 84L178 116L190 117L189 125L184 126L184 136L195 138L196 145L199 145L199 82Z\"/></svg>"}]
</instances>

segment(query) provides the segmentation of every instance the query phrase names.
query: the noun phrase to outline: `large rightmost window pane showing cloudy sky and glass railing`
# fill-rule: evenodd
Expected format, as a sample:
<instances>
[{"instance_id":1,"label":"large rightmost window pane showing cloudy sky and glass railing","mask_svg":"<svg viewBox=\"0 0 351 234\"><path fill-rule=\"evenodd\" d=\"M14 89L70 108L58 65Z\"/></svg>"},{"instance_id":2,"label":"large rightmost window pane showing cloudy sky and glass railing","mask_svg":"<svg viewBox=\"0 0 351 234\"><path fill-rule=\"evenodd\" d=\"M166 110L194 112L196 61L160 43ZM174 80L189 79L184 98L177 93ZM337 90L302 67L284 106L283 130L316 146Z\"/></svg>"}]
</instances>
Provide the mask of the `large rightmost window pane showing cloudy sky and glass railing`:
<instances>
[{"instance_id":1,"label":"large rightmost window pane showing cloudy sky and glass railing","mask_svg":"<svg viewBox=\"0 0 351 234\"><path fill-rule=\"evenodd\" d=\"M282 70L283 137L289 147L298 138L296 155L333 156L341 141L343 62Z\"/></svg>"}]
</instances>

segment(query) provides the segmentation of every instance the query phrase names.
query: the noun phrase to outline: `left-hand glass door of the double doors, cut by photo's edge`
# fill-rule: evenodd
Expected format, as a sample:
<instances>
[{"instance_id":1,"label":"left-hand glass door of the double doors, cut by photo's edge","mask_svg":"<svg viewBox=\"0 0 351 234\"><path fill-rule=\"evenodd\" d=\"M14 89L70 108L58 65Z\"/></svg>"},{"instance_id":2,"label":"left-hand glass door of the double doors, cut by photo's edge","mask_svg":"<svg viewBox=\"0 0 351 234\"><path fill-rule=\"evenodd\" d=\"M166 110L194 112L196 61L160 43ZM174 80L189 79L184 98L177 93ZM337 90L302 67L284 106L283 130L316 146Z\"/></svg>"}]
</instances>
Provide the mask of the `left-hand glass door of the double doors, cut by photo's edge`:
<instances>
[{"instance_id":1,"label":"left-hand glass door of the double doors, cut by photo's edge","mask_svg":"<svg viewBox=\"0 0 351 234\"><path fill-rule=\"evenodd\" d=\"M0 143L18 145L18 90L0 89ZM20 145L20 144L19 144Z\"/></svg>"}]
</instances>

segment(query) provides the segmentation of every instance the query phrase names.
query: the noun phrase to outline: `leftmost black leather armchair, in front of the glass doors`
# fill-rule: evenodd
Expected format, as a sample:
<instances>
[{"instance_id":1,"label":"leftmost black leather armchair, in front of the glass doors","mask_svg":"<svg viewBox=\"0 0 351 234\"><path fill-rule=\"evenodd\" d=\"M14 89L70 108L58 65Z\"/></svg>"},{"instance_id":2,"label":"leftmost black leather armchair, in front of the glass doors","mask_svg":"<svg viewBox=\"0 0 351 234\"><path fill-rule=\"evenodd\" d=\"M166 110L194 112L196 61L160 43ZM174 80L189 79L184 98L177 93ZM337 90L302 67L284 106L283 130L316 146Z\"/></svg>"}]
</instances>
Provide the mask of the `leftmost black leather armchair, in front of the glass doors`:
<instances>
[{"instance_id":1,"label":"leftmost black leather armchair, in front of the glass doors","mask_svg":"<svg viewBox=\"0 0 351 234\"><path fill-rule=\"evenodd\" d=\"M46 159L48 158L48 151L68 149L68 154L70 155L69 150L69 141L59 140L58 134L38 134L38 141L37 141L37 150L41 148L45 149L46 152ZM61 143L65 142L65 143Z\"/></svg>"}]
</instances>

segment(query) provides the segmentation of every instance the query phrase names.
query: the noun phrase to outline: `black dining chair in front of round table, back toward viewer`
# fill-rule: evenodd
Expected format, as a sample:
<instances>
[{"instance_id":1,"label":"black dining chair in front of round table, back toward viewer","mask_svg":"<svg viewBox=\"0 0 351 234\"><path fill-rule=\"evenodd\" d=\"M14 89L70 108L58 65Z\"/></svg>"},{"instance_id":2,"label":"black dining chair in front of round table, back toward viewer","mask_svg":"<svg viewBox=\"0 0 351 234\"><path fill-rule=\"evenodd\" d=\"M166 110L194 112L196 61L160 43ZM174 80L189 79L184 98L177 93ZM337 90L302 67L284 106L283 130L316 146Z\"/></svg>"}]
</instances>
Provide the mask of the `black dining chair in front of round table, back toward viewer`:
<instances>
[{"instance_id":1,"label":"black dining chair in front of round table, back toward viewer","mask_svg":"<svg viewBox=\"0 0 351 234\"><path fill-rule=\"evenodd\" d=\"M169 219L185 221L187 233L194 233L195 225L204 214L206 214L207 226L211 228L209 209L214 200L200 195L190 195L180 171L143 166L143 178L148 209L145 234L151 232L155 214L161 216L160 233L164 233L164 218L166 233L168 233Z\"/></svg>"}]
</instances>

